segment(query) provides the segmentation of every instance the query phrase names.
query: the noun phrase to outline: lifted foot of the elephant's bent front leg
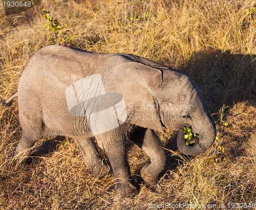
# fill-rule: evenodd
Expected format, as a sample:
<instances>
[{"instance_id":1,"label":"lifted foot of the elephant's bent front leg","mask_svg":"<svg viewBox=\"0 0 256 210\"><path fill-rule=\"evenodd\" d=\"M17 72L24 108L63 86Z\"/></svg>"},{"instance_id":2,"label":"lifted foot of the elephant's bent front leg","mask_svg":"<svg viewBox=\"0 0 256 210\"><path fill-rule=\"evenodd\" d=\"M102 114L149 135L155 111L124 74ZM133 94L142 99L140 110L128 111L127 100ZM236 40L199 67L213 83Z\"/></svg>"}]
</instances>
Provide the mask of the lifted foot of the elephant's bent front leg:
<instances>
[{"instance_id":1,"label":"lifted foot of the elephant's bent front leg","mask_svg":"<svg viewBox=\"0 0 256 210\"><path fill-rule=\"evenodd\" d=\"M156 169L154 169L151 164L146 164L143 166L140 170L140 175L146 183L150 185L157 184L157 177L159 173L156 173Z\"/></svg>"}]
</instances>

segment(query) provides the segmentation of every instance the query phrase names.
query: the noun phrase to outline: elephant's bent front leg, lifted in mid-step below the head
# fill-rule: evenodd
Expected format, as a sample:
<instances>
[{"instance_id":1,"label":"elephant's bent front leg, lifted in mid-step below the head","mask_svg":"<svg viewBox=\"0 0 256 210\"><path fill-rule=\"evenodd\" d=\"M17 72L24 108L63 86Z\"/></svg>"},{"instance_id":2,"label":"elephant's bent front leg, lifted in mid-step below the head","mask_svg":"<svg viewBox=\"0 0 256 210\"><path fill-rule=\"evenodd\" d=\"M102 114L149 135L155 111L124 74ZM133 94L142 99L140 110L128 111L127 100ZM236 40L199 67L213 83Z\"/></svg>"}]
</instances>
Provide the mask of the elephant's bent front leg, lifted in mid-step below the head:
<instances>
[{"instance_id":1,"label":"elephant's bent front leg, lifted in mid-step below the head","mask_svg":"<svg viewBox=\"0 0 256 210\"><path fill-rule=\"evenodd\" d=\"M150 164L146 164L140 170L140 175L144 181L150 185L157 184L159 174L164 170L166 164L166 154L163 146L150 128L137 127L130 136L131 140L142 148L150 157Z\"/></svg>"}]
</instances>

